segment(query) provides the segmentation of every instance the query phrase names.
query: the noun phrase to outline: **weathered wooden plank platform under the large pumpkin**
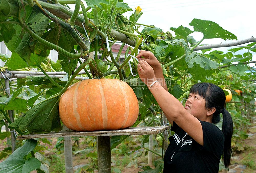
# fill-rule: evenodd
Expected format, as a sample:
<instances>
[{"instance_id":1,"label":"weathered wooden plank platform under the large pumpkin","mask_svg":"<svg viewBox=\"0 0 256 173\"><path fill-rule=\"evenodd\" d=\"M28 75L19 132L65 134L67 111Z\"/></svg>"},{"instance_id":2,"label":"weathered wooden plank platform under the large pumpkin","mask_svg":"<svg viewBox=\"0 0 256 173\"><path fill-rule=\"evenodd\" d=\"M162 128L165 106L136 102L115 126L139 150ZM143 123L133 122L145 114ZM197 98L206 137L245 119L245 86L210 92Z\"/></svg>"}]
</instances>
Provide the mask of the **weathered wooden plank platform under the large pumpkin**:
<instances>
[{"instance_id":1,"label":"weathered wooden plank platform under the large pumpkin","mask_svg":"<svg viewBox=\"0 0 256 173\"><path fill-rule=\"evenodd\" d=\"M31 138L46 138L46 137L67 137L67 136L117 136L117 135L149 135L159 134L165 130L170 129L170 126L155 126L155 127L130 127L122 130L106 130L106 131L92 131L92 132L78 132L72 130L60 131L46 134L29 134L17 136L18 140Z\"/></svg>"}]
</instances>

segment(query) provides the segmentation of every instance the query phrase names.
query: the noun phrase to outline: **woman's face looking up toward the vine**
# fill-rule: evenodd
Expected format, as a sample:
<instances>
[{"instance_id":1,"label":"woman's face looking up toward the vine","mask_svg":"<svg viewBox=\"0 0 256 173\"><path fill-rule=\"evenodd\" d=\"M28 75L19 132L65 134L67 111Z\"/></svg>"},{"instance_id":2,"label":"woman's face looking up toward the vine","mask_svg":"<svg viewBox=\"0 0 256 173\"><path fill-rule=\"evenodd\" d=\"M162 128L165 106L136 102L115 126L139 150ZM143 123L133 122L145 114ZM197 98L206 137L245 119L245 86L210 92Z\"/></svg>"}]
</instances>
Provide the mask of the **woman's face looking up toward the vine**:
<instances>
[{"instance_id":1,"label":"woman's face looking up toward the vine","mask_svg":"<svg viewBox=\"0 0 256 173\"><path fill-rule=\"evenodd\" d=\"M205 99L196 93L190 93L186 101L185 109L197 119L204 121L207 113L205 109Z\"/></svg>"}]
</instances>

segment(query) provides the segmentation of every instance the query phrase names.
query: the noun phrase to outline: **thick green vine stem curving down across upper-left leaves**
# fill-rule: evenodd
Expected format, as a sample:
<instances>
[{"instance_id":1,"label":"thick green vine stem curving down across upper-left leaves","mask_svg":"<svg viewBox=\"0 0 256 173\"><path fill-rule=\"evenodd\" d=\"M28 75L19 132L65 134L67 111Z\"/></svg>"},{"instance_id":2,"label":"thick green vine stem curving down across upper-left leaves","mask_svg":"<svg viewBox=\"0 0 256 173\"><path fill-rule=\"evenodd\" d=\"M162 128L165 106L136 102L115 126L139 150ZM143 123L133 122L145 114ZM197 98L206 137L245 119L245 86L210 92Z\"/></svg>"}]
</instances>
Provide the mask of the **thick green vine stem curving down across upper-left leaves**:
<instances>
[{"instance_id":1,"label":"thick green vine stem curving down across upper-left leaves","mask_svg":"<svg viewBox=\"0 0 256 173\"><path fill-rule=\"evenodd\" d=\"M65 49L62 49L61 47L57 47L57 45L46 41L45 39L39 37L35 32L31 31L28 26L26 24L20 23L20 26L22 26L22 28L27 31L34 39L36 39L37 41L39 41L40 43L46 45L47 47L54 49L58 52L60 52L62 55L69 57L70 59L77 59L80 58L81 56L86 55L85 53L70 53L68 51L66 51Z\"/></svg>"}]
</instances>

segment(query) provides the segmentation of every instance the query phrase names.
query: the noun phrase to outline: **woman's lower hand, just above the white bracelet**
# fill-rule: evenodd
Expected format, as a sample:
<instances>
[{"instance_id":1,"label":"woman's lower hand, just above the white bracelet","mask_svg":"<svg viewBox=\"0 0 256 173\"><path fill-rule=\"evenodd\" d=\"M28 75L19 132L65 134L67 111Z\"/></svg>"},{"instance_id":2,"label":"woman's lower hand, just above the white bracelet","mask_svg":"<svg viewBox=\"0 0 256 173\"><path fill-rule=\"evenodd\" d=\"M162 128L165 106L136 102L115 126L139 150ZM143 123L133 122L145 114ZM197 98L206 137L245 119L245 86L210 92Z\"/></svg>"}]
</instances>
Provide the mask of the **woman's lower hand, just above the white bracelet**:
<instances>
[{"instance_id":1,"label":"woman's lower hand, just above the white bracelet","mask_svg":"<svg viewBox=\"0 0 256 173\"><path fill-rule=\"evenodd\" d=\"M140 60L137 67L138 74L148 87L156 80L153 68L144 60Z\"/></svg>"}]
</instances>

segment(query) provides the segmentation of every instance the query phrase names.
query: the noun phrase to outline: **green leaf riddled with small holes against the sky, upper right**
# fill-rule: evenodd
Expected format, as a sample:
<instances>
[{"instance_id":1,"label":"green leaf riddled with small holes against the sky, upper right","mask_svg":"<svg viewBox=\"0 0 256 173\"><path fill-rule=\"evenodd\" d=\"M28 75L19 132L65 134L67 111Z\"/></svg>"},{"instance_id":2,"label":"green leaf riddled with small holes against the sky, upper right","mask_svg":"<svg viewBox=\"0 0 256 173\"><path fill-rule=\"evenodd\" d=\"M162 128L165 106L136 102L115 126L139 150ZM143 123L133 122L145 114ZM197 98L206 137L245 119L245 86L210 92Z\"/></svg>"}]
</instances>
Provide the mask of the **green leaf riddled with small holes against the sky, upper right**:
<instances>
[{"instance_id":1,"label":"green leaf riddled with small holes against the sky, upper right","mask_svg":"<svg viewBox=\"0 0 256 173\"><path fill-rule=\"evenodd\" d=\"M237 40L234 34L210 20L193 19L189 25L193 26L195 31L203 33L204 39L222 38L223 40Z\"/></svg>"}]
</instances>

